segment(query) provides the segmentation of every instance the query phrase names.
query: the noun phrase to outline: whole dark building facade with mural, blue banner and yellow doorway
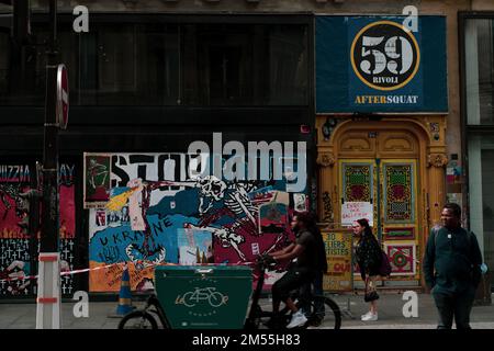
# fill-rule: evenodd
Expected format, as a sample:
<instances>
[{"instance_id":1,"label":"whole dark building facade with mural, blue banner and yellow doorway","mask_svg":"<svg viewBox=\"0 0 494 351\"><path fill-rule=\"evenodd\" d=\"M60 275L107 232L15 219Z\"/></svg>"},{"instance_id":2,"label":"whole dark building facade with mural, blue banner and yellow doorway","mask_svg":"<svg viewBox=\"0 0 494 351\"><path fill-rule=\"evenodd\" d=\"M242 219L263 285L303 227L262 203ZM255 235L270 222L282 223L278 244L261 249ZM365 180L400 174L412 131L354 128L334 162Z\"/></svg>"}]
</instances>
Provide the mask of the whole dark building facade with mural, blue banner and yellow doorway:
<instances>
[{"instance_id":1,"label":"whole dark building facade with mural, blue banner and yellow doorway","mask_svg":"<svg viewBox=\"0 0 494 351\"><path fill-rule=\"evenodd\" d=\"M60 245L70 269L94 269L67 275L67 296L117 291L123 261L133 262L133 288L141 290L153 262L203 261L211 251L216 262L247 260L288 240L281 229L288 223L279 218L294 211L316 211L324 227L337 230L352 202L368 203L393 260L388 285L423 285L427 233L447 200L462 204L492 265L491 76L469 75L492 68L483 59L492 48L480 44L492 35L492 13L480 12L494 10L490 1L58 2L60 61L70 81L69 127L59 136ZM78 4L89 9L88 33L74 32ZM418 32L401 26L406 5L418 10ZM33 213L18 196L38 185L43 145L46 3L32 1L32 45L16 48L10 30L0 29L4 274L36 270L35 229L26 219ZM369 80L382 57L366 53L384 43L372 52L373 39L364 37L378 35L390 41L382 71L398 71L397 78ZM193 141L211 150L191 157ZM229 160L228 141L274 148L268 179L259 172L252 184L214 173ZM305 145L306 160L287 156L290 143L295 150ZM277 148L279 180L272 179ZM201 165L220 177L202 183L190 177ZM293 174L304 176L303 186ZM133 182L138 179L145 186ZM135 188L127 206L104 206ZM142 213L135 223L134 202ZM175 241L162 239L171 231ZM195 244L207 236L210 244ZM180 248L195 248L194 254ZM30 284L4 283L1 296L31 297Z\"/></svg>"}]
</instances>

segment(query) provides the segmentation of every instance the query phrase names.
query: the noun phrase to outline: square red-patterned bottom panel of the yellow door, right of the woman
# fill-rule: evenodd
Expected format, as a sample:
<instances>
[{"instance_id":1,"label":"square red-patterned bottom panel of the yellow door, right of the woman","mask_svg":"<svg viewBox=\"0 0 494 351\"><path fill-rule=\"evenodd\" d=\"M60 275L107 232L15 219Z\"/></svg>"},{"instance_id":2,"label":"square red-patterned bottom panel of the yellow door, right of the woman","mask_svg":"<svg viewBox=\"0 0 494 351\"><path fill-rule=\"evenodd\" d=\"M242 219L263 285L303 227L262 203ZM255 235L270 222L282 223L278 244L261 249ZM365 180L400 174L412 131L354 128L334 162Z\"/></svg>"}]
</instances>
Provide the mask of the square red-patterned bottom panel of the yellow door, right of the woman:
<instances>
[{"instance_id":1,"label":"square red-patterned bottom panel of the yellow door, right of the woman","mask_svg":"<svg viewBox=\"0 0 494 351\"><path fill-rule=\"evenodd\" d=\"M391 275L415 275L415 242L385 244L390 258Z\"/></svg>"}]
</instances>

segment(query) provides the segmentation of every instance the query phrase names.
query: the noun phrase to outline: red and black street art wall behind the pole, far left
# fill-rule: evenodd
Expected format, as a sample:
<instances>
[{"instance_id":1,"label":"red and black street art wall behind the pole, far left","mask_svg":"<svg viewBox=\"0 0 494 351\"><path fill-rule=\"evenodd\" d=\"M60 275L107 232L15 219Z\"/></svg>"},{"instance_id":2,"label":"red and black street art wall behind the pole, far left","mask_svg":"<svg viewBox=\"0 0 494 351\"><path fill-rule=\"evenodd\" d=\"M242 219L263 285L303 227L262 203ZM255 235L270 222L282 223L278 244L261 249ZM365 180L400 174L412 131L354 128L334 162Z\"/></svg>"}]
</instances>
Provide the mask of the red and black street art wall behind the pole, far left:
<instances>
[{"instance_id":1,"label":"red and black street art wall behind the pole, far left","mask_svg":"<svg viewBox=\"0 0 494 351\"><path fill-rule=\"evenodd\" d=\"M34 165L0 165L0 297L36 294L35 262L40 251L40 235L30 234L30 211L35 176ZM75 165L59 167L60 254L61 269L74 269L76 258ZM74 291L74 278L61 278L61 293Z\"/></svg>"}]
</instances>

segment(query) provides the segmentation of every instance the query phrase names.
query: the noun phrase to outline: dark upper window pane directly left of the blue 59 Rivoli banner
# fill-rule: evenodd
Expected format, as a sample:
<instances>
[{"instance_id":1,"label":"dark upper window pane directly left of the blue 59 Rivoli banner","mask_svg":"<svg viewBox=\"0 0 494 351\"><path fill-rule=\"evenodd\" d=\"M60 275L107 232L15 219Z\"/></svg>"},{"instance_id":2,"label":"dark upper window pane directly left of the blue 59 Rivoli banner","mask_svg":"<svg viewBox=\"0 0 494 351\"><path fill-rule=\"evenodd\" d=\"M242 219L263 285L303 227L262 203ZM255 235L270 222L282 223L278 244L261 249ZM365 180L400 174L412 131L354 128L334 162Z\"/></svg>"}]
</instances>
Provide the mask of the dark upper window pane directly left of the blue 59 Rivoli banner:
<instances>
[{"instance_id":1,"label":"dark upper window pane directly left of the blue 59 Rivoli banner","mask_svg":"<svg viewBox=\"0 0 494 351\"><path fill-rule=\"evenodd\" d=\"M183 27L184 103L304 105L304 25L201 24Z\"/></svg>"}]
</instances>

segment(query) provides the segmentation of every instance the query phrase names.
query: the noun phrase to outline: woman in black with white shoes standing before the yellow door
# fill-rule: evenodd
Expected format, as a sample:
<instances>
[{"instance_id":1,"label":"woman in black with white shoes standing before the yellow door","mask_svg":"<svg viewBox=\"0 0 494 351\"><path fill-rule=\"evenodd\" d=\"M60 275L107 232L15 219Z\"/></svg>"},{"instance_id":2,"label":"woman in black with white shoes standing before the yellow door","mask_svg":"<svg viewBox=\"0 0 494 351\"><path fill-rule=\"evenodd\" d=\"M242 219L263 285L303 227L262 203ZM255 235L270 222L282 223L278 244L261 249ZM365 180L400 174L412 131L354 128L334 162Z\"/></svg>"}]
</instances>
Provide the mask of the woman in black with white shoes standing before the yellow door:
<instances>
[{"instance_id":1,"label":"woman in black with white shoes standing before the yellow door","mask_svg":"<svg viewBox=\"0 0 494 351\"><path fill-rule=\"evenodd\" d=\"M378 292L375 282L380 275L381 268L381 247L372 234L367 219L359 219L353 223L353 234L359 238L356 248L357 263L360 268L360 275L366 282L364 301L370 303L370 310L362 315L363 321L378 320Z\"/></svg>"}]
</instances>

